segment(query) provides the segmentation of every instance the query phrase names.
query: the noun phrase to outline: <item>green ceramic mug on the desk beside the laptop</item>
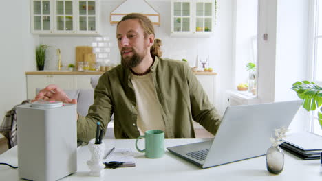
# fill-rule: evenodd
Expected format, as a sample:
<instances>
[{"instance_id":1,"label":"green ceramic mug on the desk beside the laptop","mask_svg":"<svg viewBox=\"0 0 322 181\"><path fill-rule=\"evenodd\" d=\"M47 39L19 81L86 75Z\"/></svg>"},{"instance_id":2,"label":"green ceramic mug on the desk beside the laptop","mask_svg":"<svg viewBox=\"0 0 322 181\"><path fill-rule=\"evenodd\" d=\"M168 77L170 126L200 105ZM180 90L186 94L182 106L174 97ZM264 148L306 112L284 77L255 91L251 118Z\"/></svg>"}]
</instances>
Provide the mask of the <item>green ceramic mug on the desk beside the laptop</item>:
<instances>
[{"instance_id":1,"label":"green ceramic mug on the desk beside the laptop","mask_svg":"<svg viewBox=\"0 0 322 181\"><path fill-rule=\"evenodd\" d=\"M145 138L145 149L138 148L138 141ZM147 130L144 136L136 139L136 149L139 152L145 152L147 158L161 158L164 155L164 131Z\"/></svg>"}]
</instances>

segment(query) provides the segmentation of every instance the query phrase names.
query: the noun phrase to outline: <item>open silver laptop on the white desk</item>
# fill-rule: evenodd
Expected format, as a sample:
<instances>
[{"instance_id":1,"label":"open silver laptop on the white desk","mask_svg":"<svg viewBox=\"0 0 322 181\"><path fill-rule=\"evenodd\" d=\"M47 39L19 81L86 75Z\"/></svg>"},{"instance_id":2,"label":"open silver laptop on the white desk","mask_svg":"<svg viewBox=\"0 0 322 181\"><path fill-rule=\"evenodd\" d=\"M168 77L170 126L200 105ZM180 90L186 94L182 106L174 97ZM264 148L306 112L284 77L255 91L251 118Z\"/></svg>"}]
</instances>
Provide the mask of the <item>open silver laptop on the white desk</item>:
<instances>
[{"instance_id":1,"label":"open silver laptop on the white desk","mask_svg":"<svg viewBox=\"0 0 322 181\"><path fill-rule=\"evenodd\" d=\"M211 141L167 147L199 167L208 168L263 156L276 128L288 128L302 101L228 106Z\"/></svg>"}]
</instances>

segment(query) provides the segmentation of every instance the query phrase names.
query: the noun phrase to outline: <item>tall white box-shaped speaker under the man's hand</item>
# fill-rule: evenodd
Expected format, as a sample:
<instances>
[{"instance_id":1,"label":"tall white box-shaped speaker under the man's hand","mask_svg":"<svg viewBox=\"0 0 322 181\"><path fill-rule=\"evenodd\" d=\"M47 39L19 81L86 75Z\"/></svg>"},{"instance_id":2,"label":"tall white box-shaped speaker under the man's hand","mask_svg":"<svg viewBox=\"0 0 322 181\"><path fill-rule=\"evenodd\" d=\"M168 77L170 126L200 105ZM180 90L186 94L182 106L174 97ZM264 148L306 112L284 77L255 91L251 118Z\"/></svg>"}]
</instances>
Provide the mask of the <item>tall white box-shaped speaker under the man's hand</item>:
<instances>
[{"instance_id":1,"label":"tall white box-shaped speaker under the man's hand","mask_svg":"<svg viewBox=\"0 0 322 181\"><path fill-rule=\"evenodd\" d=\"M58 180L77 170L76 105L36 101L17 106L18 171L28 180Z\"/></svg>"}]
</instances>

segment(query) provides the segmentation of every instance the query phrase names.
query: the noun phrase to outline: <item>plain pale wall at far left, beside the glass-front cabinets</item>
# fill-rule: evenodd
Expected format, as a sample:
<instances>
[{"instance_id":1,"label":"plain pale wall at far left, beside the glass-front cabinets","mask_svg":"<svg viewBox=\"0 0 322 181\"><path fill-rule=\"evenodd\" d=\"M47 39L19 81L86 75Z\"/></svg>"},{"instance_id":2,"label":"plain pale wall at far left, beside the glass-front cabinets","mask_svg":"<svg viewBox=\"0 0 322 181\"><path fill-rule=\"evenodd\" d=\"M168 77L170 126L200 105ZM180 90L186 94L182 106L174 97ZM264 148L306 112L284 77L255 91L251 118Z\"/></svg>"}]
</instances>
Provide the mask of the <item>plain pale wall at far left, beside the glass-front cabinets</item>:
<instances>
[{"instance_id":1,"label":"plain pale wall at far left, beside the glass-front cabinets","mask_svg":"<svg viewBox=\"0 0 322 181\"><path fill-rule=\"evenodd\" d=\"M0 123L7 110L26 99L25 71L34 70L29 1L1 1Z\"/></svg>"}]
</instances>

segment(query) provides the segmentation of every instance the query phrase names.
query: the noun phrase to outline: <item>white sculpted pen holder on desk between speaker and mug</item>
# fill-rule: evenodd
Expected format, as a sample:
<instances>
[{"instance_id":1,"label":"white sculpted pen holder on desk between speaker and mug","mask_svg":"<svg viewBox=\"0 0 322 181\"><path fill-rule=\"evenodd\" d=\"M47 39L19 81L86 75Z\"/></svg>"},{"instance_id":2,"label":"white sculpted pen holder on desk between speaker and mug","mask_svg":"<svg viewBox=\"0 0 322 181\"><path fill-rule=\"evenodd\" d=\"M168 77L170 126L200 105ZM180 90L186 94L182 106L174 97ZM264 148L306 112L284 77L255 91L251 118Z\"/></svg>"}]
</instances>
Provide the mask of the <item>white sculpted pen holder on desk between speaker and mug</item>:
<instances>
[{"instance_id":1,"label":"white sculpted pen holder on desk between speaker and mug","mask_svg":"<svg viewBox=\"0 0 322 181\"><path fill-rule=\"evenodd\" d=\"M105 152L104 142L100 144L95 144L95 139L92 139L88 143L89 152L91 152L91 160L87 161L87 165L91 170L89 172L90 176L104 176L103 156Z\"/></svg>"}]
</instances>

